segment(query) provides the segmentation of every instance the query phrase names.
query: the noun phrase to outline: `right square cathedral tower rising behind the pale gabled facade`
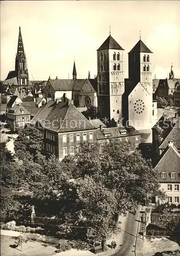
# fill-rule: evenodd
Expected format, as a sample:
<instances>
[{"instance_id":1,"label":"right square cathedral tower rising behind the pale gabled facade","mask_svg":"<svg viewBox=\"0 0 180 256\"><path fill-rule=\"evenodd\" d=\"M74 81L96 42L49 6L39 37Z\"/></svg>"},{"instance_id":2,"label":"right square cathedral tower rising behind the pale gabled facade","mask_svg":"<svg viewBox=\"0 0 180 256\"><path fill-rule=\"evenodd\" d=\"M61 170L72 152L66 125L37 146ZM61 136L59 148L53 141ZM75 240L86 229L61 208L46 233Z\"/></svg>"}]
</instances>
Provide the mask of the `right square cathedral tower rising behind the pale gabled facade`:
<instances>
[{"instance_id":1,"label":"right square cathedral tower rising behind the pale gabled facade","mask_svg":"<svg viewBox=\"0 0 180 256\"><path fill-rule=\"evenodd\" d=\"M134 84L140 82L152 95L152 52L140 40L128 53L128 77Z\"/></svg>"}]
</instances>

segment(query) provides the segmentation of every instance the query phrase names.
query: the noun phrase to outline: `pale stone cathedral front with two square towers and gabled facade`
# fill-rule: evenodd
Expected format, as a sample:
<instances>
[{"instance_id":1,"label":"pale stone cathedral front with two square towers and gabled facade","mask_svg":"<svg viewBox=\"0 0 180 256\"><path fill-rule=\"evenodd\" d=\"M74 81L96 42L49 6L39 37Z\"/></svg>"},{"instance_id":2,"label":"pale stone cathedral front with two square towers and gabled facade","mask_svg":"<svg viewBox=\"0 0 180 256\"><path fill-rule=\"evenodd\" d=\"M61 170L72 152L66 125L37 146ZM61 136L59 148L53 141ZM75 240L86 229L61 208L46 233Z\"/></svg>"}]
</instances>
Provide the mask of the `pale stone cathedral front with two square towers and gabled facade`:
<instances>
[{"instance_id":1,"label":"pale stone cathedral front with two square towers and gabled facade","mask_svg":"<svg viewBox=\"0 0 180 256\"><path fill-rule=\"evenodd\" d=\"M101 117L149 129L152 109L152 52L140 39L128 53L129 78L124 79L124 49L110 36L97 50L98 109Z\"/></svg>"}]
</instances>

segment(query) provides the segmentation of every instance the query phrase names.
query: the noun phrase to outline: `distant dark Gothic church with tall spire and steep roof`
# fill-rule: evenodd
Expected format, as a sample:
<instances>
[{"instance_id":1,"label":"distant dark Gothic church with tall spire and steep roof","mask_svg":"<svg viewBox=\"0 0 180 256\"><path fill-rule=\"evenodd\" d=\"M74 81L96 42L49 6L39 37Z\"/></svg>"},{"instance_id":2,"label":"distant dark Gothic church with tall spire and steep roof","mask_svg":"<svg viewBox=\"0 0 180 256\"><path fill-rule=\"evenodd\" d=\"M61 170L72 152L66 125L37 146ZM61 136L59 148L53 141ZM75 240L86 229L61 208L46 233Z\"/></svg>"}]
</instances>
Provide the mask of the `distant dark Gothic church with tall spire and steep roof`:
<instances>
[{"instance_id":1,"label":"distant dark Gothic church with tall spire and steep roof","mask_svg":"<svg viewBox=\"0 0 180 256\"><path fill-rule=\"evenodd\" d=\"M17 44L17 53L15 59L15 70L9 71L7 78L4 81L5 84L22 87L28 87L30 85L29 74L27 68L27 58L24 53L21 29L19 27L19 36Z\"/></svg>"}]
</instances>

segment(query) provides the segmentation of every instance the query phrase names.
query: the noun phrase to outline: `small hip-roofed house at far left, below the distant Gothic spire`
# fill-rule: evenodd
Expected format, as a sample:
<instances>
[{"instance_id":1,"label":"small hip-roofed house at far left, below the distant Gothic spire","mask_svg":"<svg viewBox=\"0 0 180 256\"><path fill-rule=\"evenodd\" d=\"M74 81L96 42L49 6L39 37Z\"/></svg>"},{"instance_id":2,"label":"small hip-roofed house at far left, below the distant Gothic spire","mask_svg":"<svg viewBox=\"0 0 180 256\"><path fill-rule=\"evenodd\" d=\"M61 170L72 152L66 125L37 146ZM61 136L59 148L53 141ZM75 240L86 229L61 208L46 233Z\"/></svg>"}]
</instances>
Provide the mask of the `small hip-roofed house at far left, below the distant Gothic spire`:
<instances>
[{"instance_id":1,"label":"small hip-roofed house at far left, below the distant Gothic spire","mask_svg":"<svg viewBox=\"0 0 180 256\"><path fill-rule=\"evenodd\" d=\"M31 114L20 103L14 105L7 113L7 123L15 127L24 127L31 120Z\"/></svg>"}]
</instances>

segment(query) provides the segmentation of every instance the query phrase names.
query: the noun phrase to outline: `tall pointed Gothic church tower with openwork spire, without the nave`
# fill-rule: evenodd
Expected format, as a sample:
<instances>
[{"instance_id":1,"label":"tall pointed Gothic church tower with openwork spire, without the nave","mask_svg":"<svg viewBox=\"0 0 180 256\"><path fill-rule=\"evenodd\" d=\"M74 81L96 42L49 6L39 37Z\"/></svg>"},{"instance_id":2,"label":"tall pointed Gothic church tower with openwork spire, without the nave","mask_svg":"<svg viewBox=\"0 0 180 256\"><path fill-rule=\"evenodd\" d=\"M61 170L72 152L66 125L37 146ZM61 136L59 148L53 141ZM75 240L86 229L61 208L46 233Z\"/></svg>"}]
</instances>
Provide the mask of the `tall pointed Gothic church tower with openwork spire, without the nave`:
<instances>
[{"instance_id":1,"label":"tall pointed Gothic church tower with openwork spire, without the nave","mask_svg":"<svg viewBox=\"0 0 180 256\"><path fill-rule=\"evenodd\" d=\"M15 72L17 75L18 86L19 87L29 86L27 59L26 59L25 53L24 53L24 47L23 47L20 27L19 27L17 54L16 54L16 60L15 60Z\"/></svg>"}]
</instances>

